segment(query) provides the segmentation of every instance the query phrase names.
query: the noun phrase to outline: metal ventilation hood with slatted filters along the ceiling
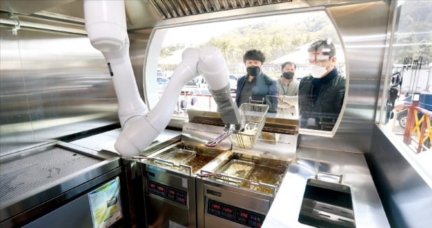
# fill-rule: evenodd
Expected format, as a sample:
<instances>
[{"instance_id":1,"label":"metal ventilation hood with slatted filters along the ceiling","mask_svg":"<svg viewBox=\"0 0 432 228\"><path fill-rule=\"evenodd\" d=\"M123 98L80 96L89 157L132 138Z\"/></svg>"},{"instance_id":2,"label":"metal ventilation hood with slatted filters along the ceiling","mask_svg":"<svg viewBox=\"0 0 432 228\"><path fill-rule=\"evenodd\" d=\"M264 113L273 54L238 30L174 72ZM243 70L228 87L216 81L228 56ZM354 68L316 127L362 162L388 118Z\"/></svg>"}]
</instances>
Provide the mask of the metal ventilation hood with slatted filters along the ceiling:
<instances>
[{"instance_id":1,"label":"metal ventilation hood with slatted filters along the ceiling","mask_svg":"<svg viewBox=\"0 0 432 228\"><path fill-rule=\"evenodd\" d=\"M84 0L1 0L0 10L84 25ZM97 0L95 0L97 1ZM153 28L164 19L284 4L304 8L364 0L125 0L128 30ZM214 17L213 15L211 17Z\"/></svg>"}]
</instances>

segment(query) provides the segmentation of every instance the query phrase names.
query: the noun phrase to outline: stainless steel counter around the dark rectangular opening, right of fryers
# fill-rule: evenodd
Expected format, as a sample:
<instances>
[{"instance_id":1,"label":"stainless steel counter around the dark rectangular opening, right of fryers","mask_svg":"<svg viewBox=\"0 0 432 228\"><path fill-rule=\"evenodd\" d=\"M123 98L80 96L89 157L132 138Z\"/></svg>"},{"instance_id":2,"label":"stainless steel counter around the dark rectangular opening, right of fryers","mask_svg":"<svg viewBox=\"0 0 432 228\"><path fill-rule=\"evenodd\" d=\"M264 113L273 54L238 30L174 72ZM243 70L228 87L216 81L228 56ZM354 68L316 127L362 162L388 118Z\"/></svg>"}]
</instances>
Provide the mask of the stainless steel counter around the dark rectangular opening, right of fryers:
<instances>
[{"instance_id":1,"label":"stainless steel counter around the dark rectangular opening, right of fryers","mask_svg":"<svg viewBox=\"0 0 432 228\"><path fill-rule=\"evenodd\" d=\"M310 227L298 222L308 179L339 181L349 186L353 197L356 227L389 227L363 154L300 147L297 161L291 163L263 227ZM330 173L330 174L323 174Z\"/></svg>"}]
</instances>

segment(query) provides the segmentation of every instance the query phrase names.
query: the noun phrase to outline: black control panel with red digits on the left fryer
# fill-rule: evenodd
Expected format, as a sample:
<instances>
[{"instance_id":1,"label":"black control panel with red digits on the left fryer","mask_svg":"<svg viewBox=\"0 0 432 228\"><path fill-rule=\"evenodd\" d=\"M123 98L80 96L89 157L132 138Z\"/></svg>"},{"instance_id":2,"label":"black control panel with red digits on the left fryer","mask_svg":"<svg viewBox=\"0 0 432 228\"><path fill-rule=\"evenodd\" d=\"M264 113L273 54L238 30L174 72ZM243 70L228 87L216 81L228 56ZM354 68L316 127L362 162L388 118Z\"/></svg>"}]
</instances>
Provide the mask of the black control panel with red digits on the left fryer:
<instances>
[{"instance_id":1,"label":"black control panel with red digits on the left fryer","mask_svg":"<svg viewBox=\"0 0 432 228\"><path fill-rule=\"evenodd\" d=\"M149 193L159 195L165 199L170 199L173 202L178 202L179 204L187 204L187 193L184 190L171 188L155 181L147 181L147 187Z\"/></svg>"}]
</instances>

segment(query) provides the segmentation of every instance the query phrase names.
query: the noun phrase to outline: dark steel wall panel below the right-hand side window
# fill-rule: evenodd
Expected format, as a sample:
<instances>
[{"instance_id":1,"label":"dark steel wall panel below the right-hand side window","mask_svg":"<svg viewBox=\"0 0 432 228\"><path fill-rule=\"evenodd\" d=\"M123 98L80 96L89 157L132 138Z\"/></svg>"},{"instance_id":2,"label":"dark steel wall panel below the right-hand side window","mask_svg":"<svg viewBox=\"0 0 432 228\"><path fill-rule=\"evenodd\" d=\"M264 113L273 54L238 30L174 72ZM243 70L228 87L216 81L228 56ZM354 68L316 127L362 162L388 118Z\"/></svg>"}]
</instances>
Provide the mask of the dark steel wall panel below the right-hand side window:
<instances>
[{"instance_id":1,"label":"dark steel wall panel below the right-hand side window","mask_svg":"<svg viewBox=\"0 0 432 228\"><path fill-rule=\"evenodd\" d=\"M431 227L432 188L377 126L367 162L392 227Z\"/></svg>"}]
</instances>

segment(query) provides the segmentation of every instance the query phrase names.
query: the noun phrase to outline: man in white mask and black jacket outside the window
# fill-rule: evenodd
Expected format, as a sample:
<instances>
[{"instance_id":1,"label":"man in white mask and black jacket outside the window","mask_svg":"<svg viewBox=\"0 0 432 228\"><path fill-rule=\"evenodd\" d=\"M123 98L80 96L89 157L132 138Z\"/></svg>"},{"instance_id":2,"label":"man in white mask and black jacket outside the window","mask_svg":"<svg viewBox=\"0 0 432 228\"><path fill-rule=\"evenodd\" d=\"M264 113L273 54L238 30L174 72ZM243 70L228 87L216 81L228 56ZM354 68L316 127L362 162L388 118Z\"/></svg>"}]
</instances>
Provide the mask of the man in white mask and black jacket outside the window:
<instances>
[{"instance_id":1,"label":"man in white mask and black jacket outside the window","mask_svg":"<svg viewBox=\"0 0 432 228\"><path fill-rule=\"evenodd\" d=\"M336 50L330 40L317 40L307 51L311 74L300 81L300 127L332 131L344 102L345 78L335 67Z\"/></svg>"}]
</instances>

